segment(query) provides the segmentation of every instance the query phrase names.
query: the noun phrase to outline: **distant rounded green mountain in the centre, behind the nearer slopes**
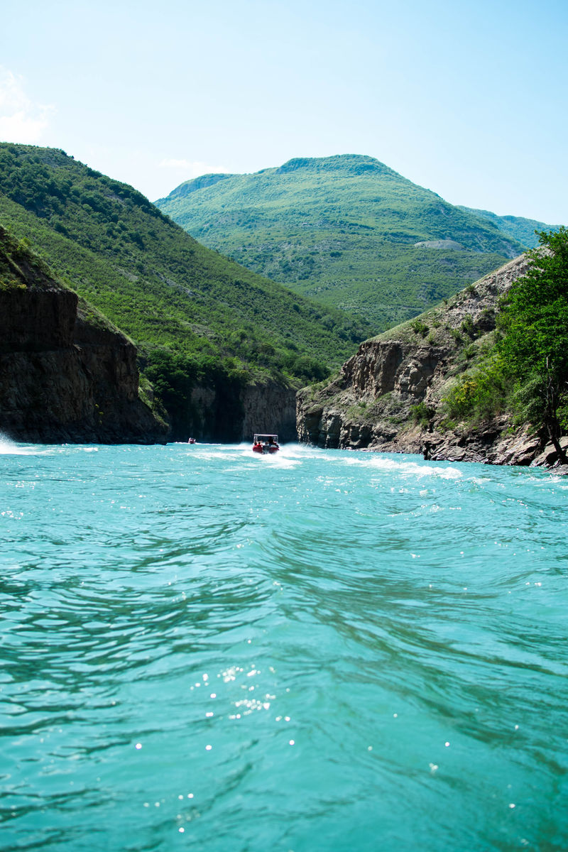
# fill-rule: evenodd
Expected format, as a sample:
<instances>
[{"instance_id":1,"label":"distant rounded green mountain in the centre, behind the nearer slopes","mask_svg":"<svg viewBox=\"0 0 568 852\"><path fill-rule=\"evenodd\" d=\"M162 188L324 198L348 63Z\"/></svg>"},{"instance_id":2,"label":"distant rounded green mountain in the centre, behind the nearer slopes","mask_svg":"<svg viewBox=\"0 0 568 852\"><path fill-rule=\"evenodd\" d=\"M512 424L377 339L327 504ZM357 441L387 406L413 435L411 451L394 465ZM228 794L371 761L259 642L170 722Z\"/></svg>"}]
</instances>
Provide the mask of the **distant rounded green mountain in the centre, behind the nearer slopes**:
<instances>
[{"instance_id":1,"label":"distant rounded green mountain in the centre, behind the nearer slopes","mask_svg":"<svg viewBox=\"0 0 568 852\"><path fill-rule=\"evenodd\" d=\"M522 250L491 222L357 155L199 177L156 204L204 245L376 330Z\"/></svg>"}]
</instances>

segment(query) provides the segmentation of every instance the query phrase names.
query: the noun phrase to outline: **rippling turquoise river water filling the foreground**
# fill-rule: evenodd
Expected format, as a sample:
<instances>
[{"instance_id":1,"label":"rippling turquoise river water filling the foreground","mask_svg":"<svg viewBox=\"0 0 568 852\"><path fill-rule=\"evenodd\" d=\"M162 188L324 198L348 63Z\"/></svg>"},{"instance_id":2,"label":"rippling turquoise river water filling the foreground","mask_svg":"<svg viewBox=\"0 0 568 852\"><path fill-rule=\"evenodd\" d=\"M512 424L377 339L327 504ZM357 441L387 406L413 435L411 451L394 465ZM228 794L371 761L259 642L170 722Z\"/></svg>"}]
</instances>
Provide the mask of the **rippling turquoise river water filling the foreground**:
<instances>
[{"instance_id":1,"label":"rippling turquoise river water filling the foreground","mask_svg":"<svg viewBox=\"0 0 568 852\"><path fill-rule=\"evenodd\" d=\"M568 849L568 480L0 444L0 848Z\"/></svg>"}]
</instances>

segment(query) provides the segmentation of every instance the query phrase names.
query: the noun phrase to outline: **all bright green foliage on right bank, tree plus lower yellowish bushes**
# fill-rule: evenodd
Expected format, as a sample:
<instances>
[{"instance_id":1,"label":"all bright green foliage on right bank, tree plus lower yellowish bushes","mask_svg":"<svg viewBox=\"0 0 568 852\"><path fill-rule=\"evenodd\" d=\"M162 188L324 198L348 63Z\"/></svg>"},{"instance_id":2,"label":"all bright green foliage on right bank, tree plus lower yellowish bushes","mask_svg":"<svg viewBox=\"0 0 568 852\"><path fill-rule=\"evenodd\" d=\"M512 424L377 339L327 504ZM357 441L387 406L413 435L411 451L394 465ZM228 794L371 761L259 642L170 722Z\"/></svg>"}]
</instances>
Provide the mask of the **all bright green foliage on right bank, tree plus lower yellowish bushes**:
<instances>
[{"instance_id":1,"label":"all bright green foliage on right bank, tree plus lower yellowish bushes","mask_svg":"<svg viewBox=\"0 0 568 852\"><path fill-rule=\"evenodd\" d=\"M479 419L502 409L548 435L568 430L568 229L542 232L531 268L502 300L493 347L456 382L450 417Z\"/></svg>"}]
</instances>

